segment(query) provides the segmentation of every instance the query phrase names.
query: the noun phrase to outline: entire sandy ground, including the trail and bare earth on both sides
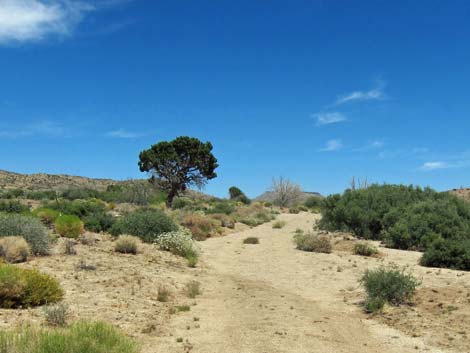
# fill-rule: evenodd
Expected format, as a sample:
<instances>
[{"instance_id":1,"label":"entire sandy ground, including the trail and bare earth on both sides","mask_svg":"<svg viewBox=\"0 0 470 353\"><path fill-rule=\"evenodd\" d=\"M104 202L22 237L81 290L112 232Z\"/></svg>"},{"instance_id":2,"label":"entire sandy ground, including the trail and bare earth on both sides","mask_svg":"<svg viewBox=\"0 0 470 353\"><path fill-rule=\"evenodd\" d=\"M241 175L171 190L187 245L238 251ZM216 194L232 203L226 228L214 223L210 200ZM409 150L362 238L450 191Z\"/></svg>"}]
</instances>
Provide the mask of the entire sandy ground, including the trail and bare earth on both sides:
<instances>
[{"instance_id":1,"label":"entire sandy ground, including the trail and bare earth on both sides","mask_svg":"<svg viewBox=\"0 0 470 353\"><path fill-rule=\"evenodd\" d=\"M23 266L60 280L74 320L119 326L145 353L470 352L468 273L418 266L420 254L411 251L381 247L378 257L356 256L356 240L344 233L329 234L331 254L296 250L294 231L311 230L318 217L282 214L282 229L271 222L200 242L194 269L148 244L138 255L114 253L110 239L93 234L97 241L77 244L76 255L63 255L59 243L55 255ZM251 236L260 243L243 244ZM366 314L358 279L390 263L422 280L415 303ZM191 280L202 288L192 299L185 295ZM168 302L158 301L161 286L170 291ZM190 310L175 310L181 305ZM42 317L41 308L2 309L0 328Z\"/></svg>"}]
</instances>

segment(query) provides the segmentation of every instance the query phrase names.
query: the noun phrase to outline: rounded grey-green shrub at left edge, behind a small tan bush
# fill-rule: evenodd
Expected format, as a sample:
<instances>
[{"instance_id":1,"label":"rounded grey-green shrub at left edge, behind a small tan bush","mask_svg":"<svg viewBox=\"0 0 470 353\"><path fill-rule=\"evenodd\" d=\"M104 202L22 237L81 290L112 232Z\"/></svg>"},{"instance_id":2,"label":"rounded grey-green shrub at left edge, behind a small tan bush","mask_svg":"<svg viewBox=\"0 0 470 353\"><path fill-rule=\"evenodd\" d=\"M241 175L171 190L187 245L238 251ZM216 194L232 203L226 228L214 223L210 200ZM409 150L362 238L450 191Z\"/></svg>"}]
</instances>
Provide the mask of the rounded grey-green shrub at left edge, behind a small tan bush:
<instances>
[{"instance_id":1,"label":"rounded grey-green shrub at left edge, behind a small tan bush","mask_svg":"<svg viewBox=\"0 0 470 353\"><path fill-rule=\"evenodd\" d=\"M0 236L22 236L34 255L47 255L51 239L38 219L17 214L0 214Z\"/></svg>"}]
</instances>

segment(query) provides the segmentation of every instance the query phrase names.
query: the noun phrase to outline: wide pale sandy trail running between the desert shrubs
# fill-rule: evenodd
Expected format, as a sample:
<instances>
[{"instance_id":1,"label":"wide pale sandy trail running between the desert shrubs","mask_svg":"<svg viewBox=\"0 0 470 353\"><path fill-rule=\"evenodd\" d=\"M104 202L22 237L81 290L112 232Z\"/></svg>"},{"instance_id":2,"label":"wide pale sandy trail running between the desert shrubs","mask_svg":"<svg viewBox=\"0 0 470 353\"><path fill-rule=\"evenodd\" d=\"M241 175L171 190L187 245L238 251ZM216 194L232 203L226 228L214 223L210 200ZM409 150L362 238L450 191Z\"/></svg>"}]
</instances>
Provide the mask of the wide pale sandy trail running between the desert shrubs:
<instances>
[{"instance_id":1,"label":"wide pale sandy trail running between the desert shrubs","mask_svg":"<svg viewBox=\"0 0 470 353\"><path fill-rule=\"evenodd\" d=\"M279 216L282 229L268 223L202 243L203 294L169 323L155 352L197 353L397 353L446 352L408 337L363 314L347 294L360 291L362 269L383 260L298 251L296 228L311 230L316 216ZM243 239L255 236L258 245ZM392 251L393 253L393 251ZM407 254L395 262L415 264ZM414 257L413 257L414 256ZM178 337L183 343L177 343ZM150 347L149 347L150 348ZM150 350L149 350L150 351Z\"/></svg>"}]
</instances>

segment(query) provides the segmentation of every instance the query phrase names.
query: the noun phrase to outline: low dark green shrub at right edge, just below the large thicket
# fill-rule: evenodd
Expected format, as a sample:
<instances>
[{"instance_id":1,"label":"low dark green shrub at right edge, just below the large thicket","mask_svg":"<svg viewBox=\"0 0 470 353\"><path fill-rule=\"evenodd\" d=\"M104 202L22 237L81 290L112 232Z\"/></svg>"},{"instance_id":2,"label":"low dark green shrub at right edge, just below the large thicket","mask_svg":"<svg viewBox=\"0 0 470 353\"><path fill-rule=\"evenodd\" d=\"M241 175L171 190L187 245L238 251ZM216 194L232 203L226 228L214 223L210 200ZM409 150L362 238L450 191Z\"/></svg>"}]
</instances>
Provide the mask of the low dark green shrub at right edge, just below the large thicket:
<instances>
[{"instance_id":1,"label":"low dark green shrub at right edge, just below the large thicket","mask_svg":"<svg viewBox=\"0 0 470 353\"><path fill-rule=\"evenodd\" d=\"M470 271L470 240L439 240L421 257L420 264Z\"/></svg>"}]
</instances>

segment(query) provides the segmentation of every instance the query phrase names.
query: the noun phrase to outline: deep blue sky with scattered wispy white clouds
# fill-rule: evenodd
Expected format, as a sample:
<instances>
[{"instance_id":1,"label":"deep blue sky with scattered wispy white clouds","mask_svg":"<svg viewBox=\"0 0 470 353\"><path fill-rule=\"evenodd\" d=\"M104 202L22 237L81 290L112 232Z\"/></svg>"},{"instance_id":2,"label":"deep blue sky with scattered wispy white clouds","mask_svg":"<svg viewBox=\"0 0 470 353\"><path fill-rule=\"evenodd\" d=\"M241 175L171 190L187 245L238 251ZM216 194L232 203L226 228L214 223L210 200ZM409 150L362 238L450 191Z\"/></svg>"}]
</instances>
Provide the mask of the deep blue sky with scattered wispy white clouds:
<instances>
[{"instance_id":1,"label":"deep blue sky with scattered wispy white clouds","mask_svg":"<svg viewBox=\"0 0 470 353\"><path fill-rule=\"evenodd\" d=\"M466 0L0 0L0 169L144 178L211 141L205 192L283 176L470 187Z\"/></svg>"}]
</instances>

